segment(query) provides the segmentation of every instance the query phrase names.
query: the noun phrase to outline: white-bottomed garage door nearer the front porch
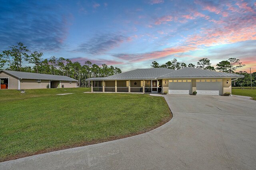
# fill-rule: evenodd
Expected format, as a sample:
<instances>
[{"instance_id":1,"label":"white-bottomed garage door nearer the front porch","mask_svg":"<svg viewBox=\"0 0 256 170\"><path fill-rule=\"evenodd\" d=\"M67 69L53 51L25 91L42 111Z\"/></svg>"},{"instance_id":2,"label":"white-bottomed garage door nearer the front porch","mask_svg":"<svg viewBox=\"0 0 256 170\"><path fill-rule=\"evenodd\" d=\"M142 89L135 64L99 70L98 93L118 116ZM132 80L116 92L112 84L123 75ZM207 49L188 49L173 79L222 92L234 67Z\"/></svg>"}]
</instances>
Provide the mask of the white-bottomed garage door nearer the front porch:
<instances>
[{"instance_id":1,"label":"white-bottomed garage door nearer the front porch","mask_svg":"<svg viewBox=\"0 0 256 170\"><path fill-rule=\"evenodd\" d=\"M191 80L169 80L169 94L191 94Z\"/></svg>"}]
</instances>

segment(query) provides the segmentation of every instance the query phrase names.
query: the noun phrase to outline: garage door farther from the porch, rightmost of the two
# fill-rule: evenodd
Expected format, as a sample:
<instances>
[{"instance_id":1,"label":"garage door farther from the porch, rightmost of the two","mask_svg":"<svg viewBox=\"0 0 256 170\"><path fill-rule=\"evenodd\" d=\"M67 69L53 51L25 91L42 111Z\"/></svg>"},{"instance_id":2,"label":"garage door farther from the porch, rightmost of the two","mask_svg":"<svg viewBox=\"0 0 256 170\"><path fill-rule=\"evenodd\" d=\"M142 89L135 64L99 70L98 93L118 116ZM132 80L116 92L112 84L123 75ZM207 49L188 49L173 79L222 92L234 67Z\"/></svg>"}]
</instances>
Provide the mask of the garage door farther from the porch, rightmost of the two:
<instances>
[{"instance_id":1,"label":"garage door farther from the porch, rightmost of the two","mask_svg":"<svg viewBox=\"0 0 256 170\"><path fill-rule=\"evenodd\" d=\"M222 95L222 80L196 80L196 92L197 95Z\"/></svg>"}]
</instances>

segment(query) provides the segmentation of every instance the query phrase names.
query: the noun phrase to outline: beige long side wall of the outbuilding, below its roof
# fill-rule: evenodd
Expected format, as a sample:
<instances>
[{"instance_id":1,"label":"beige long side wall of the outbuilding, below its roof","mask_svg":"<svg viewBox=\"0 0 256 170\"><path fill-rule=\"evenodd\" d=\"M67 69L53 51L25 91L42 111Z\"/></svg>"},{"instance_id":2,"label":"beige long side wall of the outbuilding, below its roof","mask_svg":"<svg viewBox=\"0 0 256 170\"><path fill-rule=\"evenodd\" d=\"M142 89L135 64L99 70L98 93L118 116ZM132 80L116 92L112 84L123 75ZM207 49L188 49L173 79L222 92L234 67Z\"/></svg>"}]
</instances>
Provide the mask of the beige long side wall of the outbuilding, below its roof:
<instances>
[{"instance_id":1,"label":"beige long side wall of the outbuilding, below its roof","mask_svg":"<svg viewBox=\"0 0 256 170\"><path fill-rule=\"evenodd\" d=\"M50 83L50 80L41 80L41 82L37 82L34 79L22 79L20 80L20 89L39 89L46 88L47 84Z\"/></svg>"}]
</instances>

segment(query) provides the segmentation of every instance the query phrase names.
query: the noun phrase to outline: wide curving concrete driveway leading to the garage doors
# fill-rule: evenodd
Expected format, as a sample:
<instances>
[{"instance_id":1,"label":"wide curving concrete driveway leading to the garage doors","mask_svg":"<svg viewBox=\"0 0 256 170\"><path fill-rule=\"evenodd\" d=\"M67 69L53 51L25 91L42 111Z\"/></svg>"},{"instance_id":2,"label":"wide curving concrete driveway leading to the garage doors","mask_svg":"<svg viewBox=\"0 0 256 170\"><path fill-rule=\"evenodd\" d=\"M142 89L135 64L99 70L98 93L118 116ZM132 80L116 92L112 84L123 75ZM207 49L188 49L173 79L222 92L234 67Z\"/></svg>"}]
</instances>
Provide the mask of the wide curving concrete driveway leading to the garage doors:
<instances>
[{"instance_id":1,"label":"wide curving concrete driveway leading to the garage doors","mask_svg":"<svg viewBox=\"0 0 256 170\"><path fill-rule=\"evenodd\" d=\"M255 169L256 101L166 95L173 119L148 133L0 163L1 169Z\"/></svg>"}]
</instances>

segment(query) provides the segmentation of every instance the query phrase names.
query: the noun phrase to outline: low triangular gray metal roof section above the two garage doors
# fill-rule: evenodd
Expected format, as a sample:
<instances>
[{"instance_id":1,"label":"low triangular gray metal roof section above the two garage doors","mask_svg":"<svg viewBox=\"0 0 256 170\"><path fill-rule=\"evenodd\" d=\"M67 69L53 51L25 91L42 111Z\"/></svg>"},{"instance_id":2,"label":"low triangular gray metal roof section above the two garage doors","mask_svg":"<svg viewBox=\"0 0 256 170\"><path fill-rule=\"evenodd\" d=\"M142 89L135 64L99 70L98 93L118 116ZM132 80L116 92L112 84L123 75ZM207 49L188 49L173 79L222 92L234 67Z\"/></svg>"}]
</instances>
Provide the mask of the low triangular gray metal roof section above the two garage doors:
<instances>
[{"instance_id":1,"label":"low triangular gray metal roof section above the two garage doors","mask_svg":"<svg viewBox=\"0 0 256 170\"><path fill-rule=\"evenodd\" d=\"M211 70L202 70L199 68L184 67L180 70L170 72L160 76L160 78L180 78L180 77L244 77L240 74L233 74L228 72L217 72Z\"/></svg>"}]
</instances>

